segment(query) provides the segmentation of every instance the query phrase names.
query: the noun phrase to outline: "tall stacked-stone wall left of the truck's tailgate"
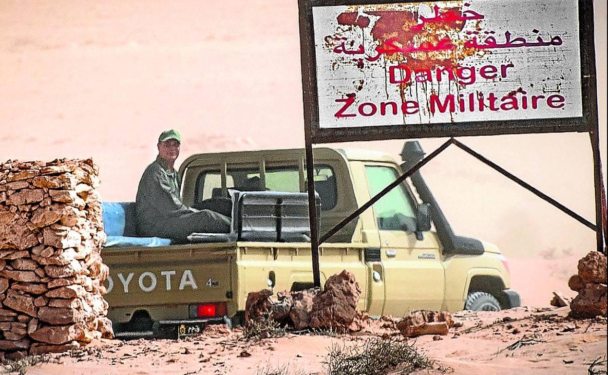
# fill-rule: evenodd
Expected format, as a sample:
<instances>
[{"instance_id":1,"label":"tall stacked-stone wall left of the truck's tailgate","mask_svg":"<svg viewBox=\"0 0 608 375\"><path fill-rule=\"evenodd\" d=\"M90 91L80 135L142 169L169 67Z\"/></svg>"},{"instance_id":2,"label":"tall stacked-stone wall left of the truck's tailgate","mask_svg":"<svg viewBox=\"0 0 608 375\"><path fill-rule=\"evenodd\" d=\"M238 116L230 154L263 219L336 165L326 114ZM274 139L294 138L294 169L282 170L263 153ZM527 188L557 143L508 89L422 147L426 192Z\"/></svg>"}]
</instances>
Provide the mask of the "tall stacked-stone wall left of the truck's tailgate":
<instances>
[{"instance_id":1,"label":"tall stacked-stone wall left of the truck's tailgate","mask_svg":"<svg viewBox=\"0 0 608 375\"><path fill-rule=\"evenodd\" d=\"M0 357L111 337L92 160L0 164Z\"/></svg>"}]
</instances>

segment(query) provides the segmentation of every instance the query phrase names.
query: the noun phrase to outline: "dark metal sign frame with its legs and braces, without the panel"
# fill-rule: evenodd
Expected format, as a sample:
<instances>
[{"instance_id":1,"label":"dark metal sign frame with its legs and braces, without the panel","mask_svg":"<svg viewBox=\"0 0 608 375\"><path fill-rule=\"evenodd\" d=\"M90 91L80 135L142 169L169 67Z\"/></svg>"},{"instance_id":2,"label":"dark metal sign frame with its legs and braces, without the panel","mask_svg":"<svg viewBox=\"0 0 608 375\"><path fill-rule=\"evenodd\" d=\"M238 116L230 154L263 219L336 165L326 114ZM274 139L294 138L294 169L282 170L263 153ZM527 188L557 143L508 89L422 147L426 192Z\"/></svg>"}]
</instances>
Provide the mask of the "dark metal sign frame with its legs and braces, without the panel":
<instances>
[{"instance_id":1,"label":"dark metal sign frame with its legs and braces, without the panel","mask_svg":"<svg viewBox=\"0 0 608 375\"><path fill-rule=\"evenodd\" d=\"M595 181L596 224L592 229L596 231L597 250L604 252L603 242L603 216L606 207L602 203L603 179L601 176L601 160L599 153L599 127L598 104L595 67L595 39L593 0L578 0L579 16L579 50L581 58L581 94L582 117L569 117L564 119L525 119L506 121L474 121L458 123L434 123L415 125L387 125L387 126L361 126L352 128L320 128L319 126L319 100L317 97L317 67L314 44L313 7L333 5L370 5L395 4L415 2L437 2L420 0L299 0L300 23L300 53L302 63L302 88L304 105L304 131L306 143L306 174L309 196L309 217L311 224L311 247L313 258L313 278L315 286L320 286L319 275L319 233L318 218L314 202L314 158L313 144L333 142L353 142L362 140L412 139L427 137L457 137L457 136L493 136L501 134L534 134L547 132L588 132L590 136ZM500 125L500 126L497 126ZM447 142L446 142L447 143ZM451 143L455 143L452 139ZM444 145L447 147L448 145ZM430 160L430 159L429 159ZM421 166L420 166L421 167ZM420 168L418 167L418 168ZM500 173L501 168L495 168ZM410 171L404 173L404 176ZM503 173L504 174L504 173ZM404 176L402 179L404 179ZM401 179L400 177L400 179ZM393 184L392 184L393 185ZM522 185L522 184L520 184ZM527 184L523 184L526 187ZM528 185L530 186L530 185ZM389 189L390 190L390 189ZM532 189L529 189L532 190ZM383 190L386 193L388 190ZM533 191L534 192L534 191ZM536 194L536 193L535 193ZM361 208L370 207L383 194L378 194L368 204ZM537 194L538 195L538 194ZM542 198L542 197L541 197ZM545 199L547 200L547 199ZM554 200L553 200L554 201ZM556 202L556 201L554 201ZM353 219L361 210L356 210ZM566 211L564 211L566 212ZM357 214L357 215L355 215ZM572 216L572 215L571 215ZM578 215L577 215L578 216ZM348 218L347 218L348 219ZM345 219L345 221L347 220ZM605 219L604 219L605 220ZM580 220L579 220L580 221ZM342 223L340 223L342 224ZM339 224L339 225L340 225ZM339 226L338 225L338 226ZM337 232L337 227L331 232ZM590 227L589 225L587 225ZM328 238L328 234L322 237Z\"/></svg>"}]
</instances>

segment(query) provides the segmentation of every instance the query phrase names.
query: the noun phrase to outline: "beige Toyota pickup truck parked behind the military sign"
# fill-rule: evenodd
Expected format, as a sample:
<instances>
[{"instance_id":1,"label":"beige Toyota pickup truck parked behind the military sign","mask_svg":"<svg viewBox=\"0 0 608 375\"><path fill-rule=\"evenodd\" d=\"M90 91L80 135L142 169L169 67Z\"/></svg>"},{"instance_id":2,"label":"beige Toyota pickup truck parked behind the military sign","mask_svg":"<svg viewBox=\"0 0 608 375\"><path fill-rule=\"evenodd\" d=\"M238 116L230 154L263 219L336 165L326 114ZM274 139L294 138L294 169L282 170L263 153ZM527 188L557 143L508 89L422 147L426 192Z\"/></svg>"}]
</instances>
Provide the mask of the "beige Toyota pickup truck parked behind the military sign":
<instances>
[{"instance_id":1,"label":"beige Toyota pickup truck parked behind the military sign","mask_svg":"<svg viewBox=\"0 0 608 375\"><path fill-rule=\"evenodd\" d=\"M314 149L319 233L369 201L423 157L406 142L388 154ZM182 200L232 217L232 232L140 238L133 202L104 203L108 317L117 337L181 337L243 317L247 294L313 286L305 150L195 154L182 163ZM319 247L322 284L346 269L359 309L372 316L418 309L519 306L496 246L457 236L416 172Z\"/></svg>"}]
</instances>

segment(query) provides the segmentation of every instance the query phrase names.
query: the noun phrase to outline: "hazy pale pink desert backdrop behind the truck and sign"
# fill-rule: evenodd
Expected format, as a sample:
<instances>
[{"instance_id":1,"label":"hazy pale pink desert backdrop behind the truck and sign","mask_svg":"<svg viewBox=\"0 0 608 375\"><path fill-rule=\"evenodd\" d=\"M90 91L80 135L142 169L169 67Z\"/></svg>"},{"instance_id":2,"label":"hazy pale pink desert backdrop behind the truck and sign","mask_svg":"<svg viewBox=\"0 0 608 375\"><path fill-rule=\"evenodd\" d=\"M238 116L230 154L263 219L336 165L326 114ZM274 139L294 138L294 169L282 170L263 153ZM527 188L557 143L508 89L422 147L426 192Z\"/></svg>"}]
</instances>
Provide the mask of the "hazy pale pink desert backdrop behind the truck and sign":
<instances>
[{"instance_id":1,"label":"hazy pale pink desert backdrop behind the truck and sign","mask_svg":"<svg viewBox=\"0 0 608 375\"><path fill-rule=\"evenodd\" d=\"M598 4L598 3L596 3ZM606 81L606 7L596 6ZM0 159L92 157L108 201L134 200L177 128L193 153L303 147L296 2L0 2ZM606 86L598 84L606 180ZM421 140L427 152L445 139ZM506 170L595 222L587 134L462 137ZM384 150L403 140L339 146ZM506 256L582 256L595 233L451 147L423 169L457 233Z\"/></svg>"}]
</instances>

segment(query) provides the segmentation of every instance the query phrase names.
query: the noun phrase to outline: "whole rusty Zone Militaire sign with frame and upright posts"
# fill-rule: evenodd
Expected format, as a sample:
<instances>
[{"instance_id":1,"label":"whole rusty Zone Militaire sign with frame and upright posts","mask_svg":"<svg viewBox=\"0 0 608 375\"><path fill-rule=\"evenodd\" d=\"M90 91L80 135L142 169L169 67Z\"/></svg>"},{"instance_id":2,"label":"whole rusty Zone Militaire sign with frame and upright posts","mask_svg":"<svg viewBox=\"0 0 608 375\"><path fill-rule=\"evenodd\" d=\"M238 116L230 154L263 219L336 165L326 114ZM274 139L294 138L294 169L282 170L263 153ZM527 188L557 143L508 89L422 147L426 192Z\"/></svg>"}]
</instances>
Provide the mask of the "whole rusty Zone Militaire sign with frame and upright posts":
<instances>
[{"instance_id":1,"label":"whole rusty Zone Militaire sign with frame and upright posts","mask_svg":"<svg viewBox=\"0 0 608 375\"><path fill-rule=\"evenodd\" d=\"M299 8L308 170L313 143L576 131L591 136L601 182L592 0Z\"/></svg>"}]
</instances>

